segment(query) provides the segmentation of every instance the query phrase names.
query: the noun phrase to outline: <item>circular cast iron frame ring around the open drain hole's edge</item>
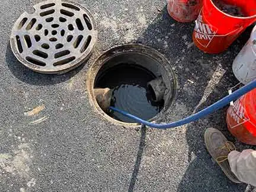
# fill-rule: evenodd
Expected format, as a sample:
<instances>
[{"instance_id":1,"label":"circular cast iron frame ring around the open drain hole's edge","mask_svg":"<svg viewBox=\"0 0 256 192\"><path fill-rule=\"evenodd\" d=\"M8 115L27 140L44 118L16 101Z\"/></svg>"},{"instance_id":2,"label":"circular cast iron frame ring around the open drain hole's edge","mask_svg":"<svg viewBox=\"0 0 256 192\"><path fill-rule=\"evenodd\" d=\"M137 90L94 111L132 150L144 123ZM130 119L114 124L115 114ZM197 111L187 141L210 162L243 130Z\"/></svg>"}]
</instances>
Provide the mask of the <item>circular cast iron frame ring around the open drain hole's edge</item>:
<instances>
[{"instance_id":1,"label":"circular cast iron frame ring around the open drain hole's edge","mask_svg":"<svg viewBox=\"0 0 256 192\"><path fill-rule=\"evenodd\" d=\"M116 119L113 119L112 117L108 116L98 105L95 95L94 95L94 87L95 87L95 78L98 75L98 72L100 69L107 63L109 60L111 60L113 57L119 56L121 54L126 53L136 53L139 55L151 57L154 59L157 63L159 63L159 66L161 69L164 70L165 74L162 76L165 84L169 89L167 89L166 95L169 94L169 98L167 101L165 101L164 108L152 119L149 121L160 123L162 119L164 119L165 113L167 112L168 108L171 106L173 101L175 100L175 96L177 93L177 78L175 76L175 73L172 69L171 63L167 60L167 58L159 53L157 50L152 49L151 47L144 46L142 44L137 43L129 43L129 44L121 44L120 46L112 47L111 49L104 52L102 55L100 55L94 62L94 64L91 66L87 73L87 90L89 95L89 102L92 106L95 107L96 113L100 114L101 117L104 119L107 119L111 123L118 124L121 126L126 127L137 127L139 124L137 123L127 123L123 121L119 121Z\"/></svg>"}]
</instances>

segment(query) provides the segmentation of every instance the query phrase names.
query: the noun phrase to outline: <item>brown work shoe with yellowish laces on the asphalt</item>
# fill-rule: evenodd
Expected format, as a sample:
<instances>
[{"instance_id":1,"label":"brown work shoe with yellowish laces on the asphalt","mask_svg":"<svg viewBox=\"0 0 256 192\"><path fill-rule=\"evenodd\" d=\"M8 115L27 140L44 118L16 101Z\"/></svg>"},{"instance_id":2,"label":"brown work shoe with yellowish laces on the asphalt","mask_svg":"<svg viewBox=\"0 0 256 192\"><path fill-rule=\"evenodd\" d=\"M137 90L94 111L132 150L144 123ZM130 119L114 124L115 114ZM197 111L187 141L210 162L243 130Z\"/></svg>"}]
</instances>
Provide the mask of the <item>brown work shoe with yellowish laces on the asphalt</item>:
<instances>
[{"instance_id":1,"label":"brown work shoe with yellowish laces on the asphalt","mask_svg":"<svg viewBox=\"0 0 256 192\"><path fill-rule=\"evenodd\" d=\"M241 183L238 178L233 174L228 162L228 154L235 151L235 145L229 142L226 137L217 129L208 128L204 132L204 142L207 151L213 159L219 164L225 175L234 183Z\"/></svg>"}]
</instances>

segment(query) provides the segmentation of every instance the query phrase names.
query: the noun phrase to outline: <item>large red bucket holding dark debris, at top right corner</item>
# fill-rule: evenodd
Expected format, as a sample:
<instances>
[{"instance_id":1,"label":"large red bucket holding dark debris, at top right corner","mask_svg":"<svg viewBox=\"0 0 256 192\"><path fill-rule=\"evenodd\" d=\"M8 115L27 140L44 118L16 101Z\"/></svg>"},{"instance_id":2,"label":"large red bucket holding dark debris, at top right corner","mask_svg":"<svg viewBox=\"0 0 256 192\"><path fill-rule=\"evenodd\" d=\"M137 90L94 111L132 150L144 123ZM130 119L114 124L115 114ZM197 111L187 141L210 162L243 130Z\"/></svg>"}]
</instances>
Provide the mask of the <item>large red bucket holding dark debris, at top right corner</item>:
<instances>
[{"instance_id":1,"label":"large red bucket holding dark debris, at top right corner","mask_svg":"<svg viewBox=\"0 0 256 192\"><path fill-rule=\"evenodd\" d=\"M255 0L204 0L193 33L194 44L206 53L223 52L255 21Z\"/></svg>"}]
</instances>

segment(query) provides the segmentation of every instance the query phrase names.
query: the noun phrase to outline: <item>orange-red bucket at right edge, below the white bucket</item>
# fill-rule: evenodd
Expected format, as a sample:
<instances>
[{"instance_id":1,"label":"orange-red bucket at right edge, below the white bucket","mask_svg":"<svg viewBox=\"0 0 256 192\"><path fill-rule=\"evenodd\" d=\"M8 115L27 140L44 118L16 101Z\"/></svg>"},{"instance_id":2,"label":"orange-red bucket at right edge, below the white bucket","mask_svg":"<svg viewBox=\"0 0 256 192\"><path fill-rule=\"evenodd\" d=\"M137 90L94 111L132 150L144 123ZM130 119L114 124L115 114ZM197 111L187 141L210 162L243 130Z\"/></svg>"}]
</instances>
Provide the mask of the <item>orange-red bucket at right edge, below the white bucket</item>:
<instances>
[{"instance_id":1,"label":"orange-red bucket at right edge, below the white bucket","mask_svg":"<svg viewBox=\"0 0 256 192\"><path fill-rule=\"evenodd\" d=\"M226 122L229 132L240 142L256 145L256 89L228 108Z\"/></svg>"}]
</instances>

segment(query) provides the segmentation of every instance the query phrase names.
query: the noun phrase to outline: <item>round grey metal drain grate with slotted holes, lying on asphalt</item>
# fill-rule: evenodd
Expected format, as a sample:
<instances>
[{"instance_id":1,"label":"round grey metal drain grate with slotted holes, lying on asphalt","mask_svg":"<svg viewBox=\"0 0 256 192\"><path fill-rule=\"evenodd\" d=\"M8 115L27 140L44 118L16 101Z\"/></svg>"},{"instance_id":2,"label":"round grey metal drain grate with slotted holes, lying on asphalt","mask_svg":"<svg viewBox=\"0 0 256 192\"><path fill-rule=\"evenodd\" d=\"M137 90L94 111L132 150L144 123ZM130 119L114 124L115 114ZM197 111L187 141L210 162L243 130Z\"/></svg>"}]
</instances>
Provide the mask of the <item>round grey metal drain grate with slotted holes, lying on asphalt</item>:
<instances>
[{"instance_id":1,"label":"round grey metal drain grate with slotted holes, lying on asphalt","mask_svg":"<svg viewBox=\"0 0 256 192\"><path fill-rule=\"evenodd\" d=\"M14 24L11 49L28 68L63 73L88 59L97 40L90 12L72 1L44 1Z\"/></svg>"}]
</instances>

